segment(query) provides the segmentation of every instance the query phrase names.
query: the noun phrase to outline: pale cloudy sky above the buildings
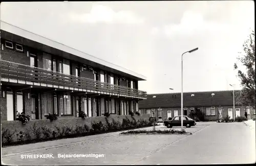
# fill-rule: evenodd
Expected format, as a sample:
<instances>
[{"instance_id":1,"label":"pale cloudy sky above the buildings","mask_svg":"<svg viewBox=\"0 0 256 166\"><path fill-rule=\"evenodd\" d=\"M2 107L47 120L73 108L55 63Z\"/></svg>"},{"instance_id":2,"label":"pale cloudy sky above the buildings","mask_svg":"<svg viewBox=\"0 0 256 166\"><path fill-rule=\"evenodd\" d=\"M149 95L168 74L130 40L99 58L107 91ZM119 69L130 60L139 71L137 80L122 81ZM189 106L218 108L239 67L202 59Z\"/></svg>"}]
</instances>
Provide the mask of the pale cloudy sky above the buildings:
<instances>
[{"instance_id":1,"label":"pale cloudy sky above the buildings","mask_svg":"<svg viewBox=\"0 0 256 166\"><path fill-rule=\"evenodd\" d=\"M5 2L1 20L133 70L147 93L241 89L253 1ZM173 88L174 90L169 90Z\"/></svg>"}]
</instances>

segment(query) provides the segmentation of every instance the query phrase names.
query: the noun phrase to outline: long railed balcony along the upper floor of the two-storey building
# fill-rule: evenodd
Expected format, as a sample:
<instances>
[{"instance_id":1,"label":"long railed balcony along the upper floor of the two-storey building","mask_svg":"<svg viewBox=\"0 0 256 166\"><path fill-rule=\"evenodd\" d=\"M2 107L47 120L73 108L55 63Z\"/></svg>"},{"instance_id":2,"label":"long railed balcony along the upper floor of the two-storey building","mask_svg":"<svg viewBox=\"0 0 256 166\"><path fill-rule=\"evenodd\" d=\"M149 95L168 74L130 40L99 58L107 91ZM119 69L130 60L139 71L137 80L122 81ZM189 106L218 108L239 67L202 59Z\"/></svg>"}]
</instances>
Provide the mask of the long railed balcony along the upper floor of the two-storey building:
<instances>
[{"instance_id":1,"label":"long railed balcony along the upper floor of the two-storey building","mask_svg":"<svg viewBox=\"0 0 256 166\"><path fill-rule=\"evenodd\" d=\"M1 60L1 81L146 99L146 92Z\"/></svg>"}]
</instances>

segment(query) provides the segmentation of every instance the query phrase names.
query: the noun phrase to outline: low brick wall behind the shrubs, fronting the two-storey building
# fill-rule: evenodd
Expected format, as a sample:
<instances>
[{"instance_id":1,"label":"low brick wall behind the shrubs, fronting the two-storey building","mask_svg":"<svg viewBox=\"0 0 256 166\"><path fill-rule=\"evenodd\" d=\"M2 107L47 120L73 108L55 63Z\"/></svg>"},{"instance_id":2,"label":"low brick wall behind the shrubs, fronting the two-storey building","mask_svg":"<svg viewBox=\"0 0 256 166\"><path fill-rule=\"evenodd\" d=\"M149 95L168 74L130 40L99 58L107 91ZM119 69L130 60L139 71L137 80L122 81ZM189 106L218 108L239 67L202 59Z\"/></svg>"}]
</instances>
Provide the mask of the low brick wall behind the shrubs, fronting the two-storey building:
<instances>
[{"instance_id":1,"label":"low brick wall behind the shrubs, fronting the two-storey building","mask_svg":"<svg viewBox=\"0 0 256 166\"><path fill-rule=\"evenodd\" d=\"M115 121L119 121L120 123L122 123L123 118L128 117L130 120L132 120L131 116L125 116L125 115L111 115L109 117L109 122L112 122L112 118ZM144 119L147 120L149 119L149 115L145 114L145 115L134 115L136 120ZM34 123L36 123L37 127L44 127L47 126L49 128L55 129L54 126L58 126L58 127L62 127L62 126L69 126L69 127L74 127L76 125L88 125L89 128L92 128L92 123L93 122L102 122L105 123L105 117L104 116L97 116L97 117L88 117L85 120L83 120L82 118L72 118L72 117L67 117L67 118L59 118L56 121L50 122L50 120L31 120L29 121L26 125L23 125L21 122L19 121L2 121L2 132L6 129L9 129L12 132L14 132L14 130L16 130L17 132L19 131L26 131L26 129L30 129L33 127ZM56 129L55 129L56 130ZM33 137L33 133L31 134L31 136ZM14 136L14 141L16 141L16 135Z\"/></svg>"}]
</instances>

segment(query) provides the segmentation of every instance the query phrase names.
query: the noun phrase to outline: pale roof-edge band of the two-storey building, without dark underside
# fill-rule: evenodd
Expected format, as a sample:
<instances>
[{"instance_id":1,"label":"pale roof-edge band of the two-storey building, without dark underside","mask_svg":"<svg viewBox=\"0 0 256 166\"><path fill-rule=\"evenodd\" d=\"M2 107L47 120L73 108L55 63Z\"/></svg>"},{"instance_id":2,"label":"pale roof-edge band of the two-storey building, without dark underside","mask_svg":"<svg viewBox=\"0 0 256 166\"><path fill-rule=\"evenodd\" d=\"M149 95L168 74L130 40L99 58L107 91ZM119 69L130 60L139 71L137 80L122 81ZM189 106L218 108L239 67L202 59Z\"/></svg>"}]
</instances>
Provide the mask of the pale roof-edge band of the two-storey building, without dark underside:
<instances>
[{"instance_id":1,"label":"pale roof-edge band of the two-storey building, without dark underside","mask_svg":"<svg viewBox=\"0 0 256 166\"><path fill-rule=\"evenodd\" d=\"M73 54L73 55L78 56L80 58L84 58L84 59L90 60L92 62L95 62L95 63L101 64L101 65L113 68L113 69L118 70L120 72L123 72L123 73L129 74L131 76L137 77L137 78L139 78L139 80L146 80L145 76L137 74L137 73L133 72L132 70L129 70L129 69L126 69L124 67L115 65L115 64L110 63L108 61L102 60L100 58L97 58L97 57L94 57L92 55L86 54L86 53L81 52L79 50L73 49L70 46L67 46L65 44L53 41L53 40L48 39L46 37L43 37L43 36L37 35L35 33L29 32L27 30L21 29L19 27L11 25L10 23L7 23L5 21L1 20L0 28L1 28L1 30L10 32L12 34L22 36L24 38L36 41L38 43L48 45L52 48L55 48L55 49Z\"/></svg>"}]
</instances>

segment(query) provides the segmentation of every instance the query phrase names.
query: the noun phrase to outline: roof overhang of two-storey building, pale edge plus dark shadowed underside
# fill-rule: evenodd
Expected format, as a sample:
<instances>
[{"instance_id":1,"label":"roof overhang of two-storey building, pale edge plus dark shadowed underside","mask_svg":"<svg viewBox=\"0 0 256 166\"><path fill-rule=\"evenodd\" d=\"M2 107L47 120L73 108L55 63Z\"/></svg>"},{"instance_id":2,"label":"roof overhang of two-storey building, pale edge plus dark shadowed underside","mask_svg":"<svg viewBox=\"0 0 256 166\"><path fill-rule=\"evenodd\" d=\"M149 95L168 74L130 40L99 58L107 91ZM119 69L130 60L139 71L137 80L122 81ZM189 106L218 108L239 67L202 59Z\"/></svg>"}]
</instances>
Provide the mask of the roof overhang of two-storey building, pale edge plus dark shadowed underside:
<instances>
[{"instance_id":1,"label":"roof overhang of two-storey building, pale edge plus dark shadowed underside","mask_svg":"<svg viewBox=\"0 0 256 166\"><path fill-rule=\"evenodd\" d=\"M18 28L16 26L10 25L7 22L1 20L1 37L7 40L13 40L20 44L31 46L35 49L42 50L44 52L52 53L63 58L72 59L77 62L91 65L92 67L103 69L107 72L112 72L119 74L121 76L134 79L137 81L144 81L146 77L137 74L129 69L123 68L121 66L115 65L113 63L107 62L105 60L99 59L92 55L83 53L70 46L61 44L59 42L53 41L51 39L45 38L43 36L34 34L27 30Z\"/></svg>"}]
</instances>

